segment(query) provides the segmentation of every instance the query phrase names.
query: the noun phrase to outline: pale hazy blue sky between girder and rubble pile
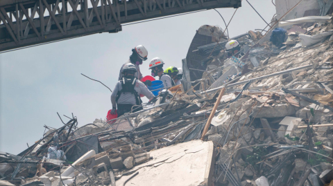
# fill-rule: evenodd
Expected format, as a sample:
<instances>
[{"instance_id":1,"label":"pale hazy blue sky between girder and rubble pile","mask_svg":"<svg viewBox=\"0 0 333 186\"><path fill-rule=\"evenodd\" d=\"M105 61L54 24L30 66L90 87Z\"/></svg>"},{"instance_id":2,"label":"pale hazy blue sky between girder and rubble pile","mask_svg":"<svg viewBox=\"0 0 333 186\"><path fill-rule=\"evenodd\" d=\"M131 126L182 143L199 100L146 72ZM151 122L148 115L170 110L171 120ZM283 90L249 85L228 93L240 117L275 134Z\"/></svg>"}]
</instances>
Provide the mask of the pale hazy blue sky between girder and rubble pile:
<instances>
[{"instance_id":1,"label":"pale hazy blue sky between girder and rubble pile","mask_svg":"<svg viewBox=\"0 0 333 186\"><path fill-rule=\"evenodd\" d=\"M275 6L270 0L249 0L270 22ZM225 21L234 8L217 8ZM123 26L118 33L102 33L35 46L0 54L0 151L19 154L44 133L44 125L58 129L62 122L57 112L78 118L78 126L105 119L112 109L110 89L117 83L121 65L131 50L142 44L148 60L140 66L150 75L148 64L160 57L166 66L181 67L181 60L202 25L219 25L223 20L214 10ZM248 30L263 29L265 22L246 1L228 26L230 37ZM69 119L62 116L62 120Z\"/></svg>"}]
</instances>

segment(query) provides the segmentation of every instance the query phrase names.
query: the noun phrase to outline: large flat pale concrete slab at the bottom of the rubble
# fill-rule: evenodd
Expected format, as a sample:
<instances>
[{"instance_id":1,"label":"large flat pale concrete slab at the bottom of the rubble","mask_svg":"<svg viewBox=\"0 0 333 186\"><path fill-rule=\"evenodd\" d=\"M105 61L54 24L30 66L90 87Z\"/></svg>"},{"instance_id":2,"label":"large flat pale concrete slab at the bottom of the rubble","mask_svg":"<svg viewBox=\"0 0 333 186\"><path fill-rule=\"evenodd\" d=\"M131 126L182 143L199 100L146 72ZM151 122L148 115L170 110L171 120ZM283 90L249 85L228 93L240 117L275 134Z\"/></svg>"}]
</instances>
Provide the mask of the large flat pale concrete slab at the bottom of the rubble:
<instances>
[{"instance_id":1,"label":"large flat pale concrete slab at the bottom of the rubble","mask_svg":"<svg viewBox=\"0 0 333 186\"><path fill-rule=\"evenodd\" d=\"M150 152L153 160L133 167L126 185L212 185L214 145L194 140ZM117 185L133 176L122 176Z\"/></svg>"}]
</instances>

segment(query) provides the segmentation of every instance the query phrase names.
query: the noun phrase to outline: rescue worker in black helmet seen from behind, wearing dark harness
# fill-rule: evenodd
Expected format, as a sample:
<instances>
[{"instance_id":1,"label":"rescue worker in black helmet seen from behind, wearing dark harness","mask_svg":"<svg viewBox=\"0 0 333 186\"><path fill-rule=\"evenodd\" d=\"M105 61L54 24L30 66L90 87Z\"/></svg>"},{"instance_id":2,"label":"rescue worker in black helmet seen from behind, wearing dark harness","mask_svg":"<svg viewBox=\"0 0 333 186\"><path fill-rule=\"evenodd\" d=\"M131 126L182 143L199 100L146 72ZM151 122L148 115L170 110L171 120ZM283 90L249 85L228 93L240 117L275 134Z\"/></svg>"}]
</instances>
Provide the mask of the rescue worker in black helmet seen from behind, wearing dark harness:
<instances>
[{"instance_id":1,"label":"rescue worker in black helmet seen from behind, wearing dark harness","mask_svg":"<svg viewBox=\"0 0 333 186\"><path fill-rule=\"evenodd\" d=\"M122 73L123 77L117 82L111 95L111 113L115 114L117 109L118 117L124 113L142 110L140 94L145 95L149 100L155 97L153 93L148 90L146 85L135 77L137 68L134 64L126 64L123 66Z\"/></svg>"}]
</instances>

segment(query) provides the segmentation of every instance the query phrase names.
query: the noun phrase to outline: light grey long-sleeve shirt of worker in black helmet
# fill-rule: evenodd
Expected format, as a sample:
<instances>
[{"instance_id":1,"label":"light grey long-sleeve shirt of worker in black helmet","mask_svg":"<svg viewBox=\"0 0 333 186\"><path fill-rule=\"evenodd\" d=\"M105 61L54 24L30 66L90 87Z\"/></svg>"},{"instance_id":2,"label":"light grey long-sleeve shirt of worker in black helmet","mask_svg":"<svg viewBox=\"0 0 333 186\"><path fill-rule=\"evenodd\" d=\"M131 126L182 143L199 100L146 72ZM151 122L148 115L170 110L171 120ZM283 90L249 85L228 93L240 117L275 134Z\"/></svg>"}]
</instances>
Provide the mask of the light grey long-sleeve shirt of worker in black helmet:
<instances>
[{"instance_id":1,"label":"light grey long-sleeve shirt of worker in black helmet","mask_svg":"<svg viewBox=\"0 0 333 186\"><path fill-rule=\"evenodd\" d=\"M129 92L121 93L118 102L116 102L117 93L121 91L121 89L123 88L121 86L121 82L119 81L114 87L114 90L111 95L112 107L116 108L116 104L137 104L135 100L135 95ZM155 95L153 95L153 93L151 93L151 91L148 90L147 86L143 82L140 82L139 80L136 80L134 90L137 91L138 95L143 94L149 100L155 97Z\"/></svg>"}]
</instances>

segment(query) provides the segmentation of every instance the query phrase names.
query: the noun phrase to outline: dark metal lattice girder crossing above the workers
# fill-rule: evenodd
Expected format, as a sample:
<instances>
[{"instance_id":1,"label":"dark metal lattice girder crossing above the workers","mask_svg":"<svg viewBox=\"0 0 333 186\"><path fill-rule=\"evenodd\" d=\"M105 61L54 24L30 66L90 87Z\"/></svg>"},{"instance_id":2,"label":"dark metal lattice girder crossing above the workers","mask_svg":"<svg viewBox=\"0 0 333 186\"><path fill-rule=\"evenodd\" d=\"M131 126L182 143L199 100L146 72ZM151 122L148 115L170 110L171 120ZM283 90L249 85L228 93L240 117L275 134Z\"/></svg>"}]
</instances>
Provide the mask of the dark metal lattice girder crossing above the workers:
<instances>
[{"instance_id":1,"label":"dark metal lattice girder crossing above the workers","mask_svg":"<svg viewBox=\"0 0 333 186\"><path fill-rule=\"evenodd\" d=\"M0 51L119 32L121 24L144 19L240 6L241 0L0 0Z\"/></svg>"}]
</instances>

